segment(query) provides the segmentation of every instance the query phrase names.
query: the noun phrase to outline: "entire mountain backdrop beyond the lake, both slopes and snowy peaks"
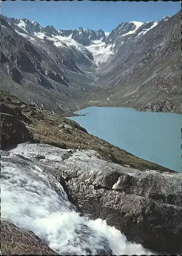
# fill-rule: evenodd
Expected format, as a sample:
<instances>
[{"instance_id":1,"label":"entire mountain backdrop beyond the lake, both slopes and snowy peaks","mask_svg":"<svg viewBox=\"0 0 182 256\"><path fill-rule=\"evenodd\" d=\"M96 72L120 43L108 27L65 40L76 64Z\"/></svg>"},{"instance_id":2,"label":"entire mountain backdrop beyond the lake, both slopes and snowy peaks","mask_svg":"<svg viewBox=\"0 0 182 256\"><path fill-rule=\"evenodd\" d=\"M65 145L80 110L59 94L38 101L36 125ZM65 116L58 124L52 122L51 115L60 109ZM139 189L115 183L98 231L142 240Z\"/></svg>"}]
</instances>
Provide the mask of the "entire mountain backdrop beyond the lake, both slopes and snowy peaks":
<instances>
[{"instance_id":1,"label":"entire mountain backdrop beyond the lake, both slopes and snowy peaks","mask_svg":"<svg viewBox=\"0 0 182 256\"><path fill-rule=\"evenodd\" d=\"M109 35L2 16L2 88L55 112L87 105L180 110L180 12ZM49 97L48 97L49 95Z\"/></svg>"}]
</instances>

